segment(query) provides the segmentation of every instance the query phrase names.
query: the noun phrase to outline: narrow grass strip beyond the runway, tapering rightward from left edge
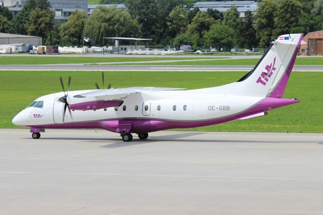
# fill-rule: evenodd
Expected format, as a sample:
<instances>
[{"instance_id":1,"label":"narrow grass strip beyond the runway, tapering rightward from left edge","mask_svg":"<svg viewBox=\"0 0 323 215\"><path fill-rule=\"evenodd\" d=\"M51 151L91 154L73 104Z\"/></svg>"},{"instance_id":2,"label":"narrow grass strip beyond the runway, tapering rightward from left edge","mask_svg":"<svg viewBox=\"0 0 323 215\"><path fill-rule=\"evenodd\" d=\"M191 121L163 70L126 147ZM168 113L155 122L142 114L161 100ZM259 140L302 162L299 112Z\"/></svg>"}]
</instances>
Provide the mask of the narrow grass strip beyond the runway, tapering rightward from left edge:
<instances>
[{"instance_id":1,"label":"narrow grass strip beyond the runway, tapering rightward from left edge","mask_svg":"<svg viewBox=\"0 0 323 215\"><path fill-rule=\"evenodd\" d=\"M96 57L48 57L48 56L0 56L0 65L40 65L40 64L88 64L88 63L112 63L112 62L140 62L140 61L169 61L169 60L193 60L199 58L96 58ZM202 58L203 59L203 58ZM209 59L206 57L206 59Z\"/></svg>"}]
</instances>

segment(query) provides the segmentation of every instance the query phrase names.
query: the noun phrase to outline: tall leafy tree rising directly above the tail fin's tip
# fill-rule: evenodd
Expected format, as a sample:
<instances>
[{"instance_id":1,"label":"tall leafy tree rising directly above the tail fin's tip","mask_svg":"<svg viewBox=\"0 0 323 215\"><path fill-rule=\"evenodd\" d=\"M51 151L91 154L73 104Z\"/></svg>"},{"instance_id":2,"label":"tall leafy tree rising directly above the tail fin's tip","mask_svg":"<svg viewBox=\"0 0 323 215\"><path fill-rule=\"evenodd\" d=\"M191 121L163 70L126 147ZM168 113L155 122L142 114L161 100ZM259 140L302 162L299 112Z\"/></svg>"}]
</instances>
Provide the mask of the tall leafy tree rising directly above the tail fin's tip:
<instances>
[{"instance_id":1,"label":"tall leafy tree rising directly above the tail fin's tip","mask_svg":"<svg viewBox=\"0 0 323 215\"><path fill-rule=\"evenodd\" d=\"M302 4L298 0L281 0L274 19L274 36L297 33L301 12Z\"/></svg>"}]
</instances>

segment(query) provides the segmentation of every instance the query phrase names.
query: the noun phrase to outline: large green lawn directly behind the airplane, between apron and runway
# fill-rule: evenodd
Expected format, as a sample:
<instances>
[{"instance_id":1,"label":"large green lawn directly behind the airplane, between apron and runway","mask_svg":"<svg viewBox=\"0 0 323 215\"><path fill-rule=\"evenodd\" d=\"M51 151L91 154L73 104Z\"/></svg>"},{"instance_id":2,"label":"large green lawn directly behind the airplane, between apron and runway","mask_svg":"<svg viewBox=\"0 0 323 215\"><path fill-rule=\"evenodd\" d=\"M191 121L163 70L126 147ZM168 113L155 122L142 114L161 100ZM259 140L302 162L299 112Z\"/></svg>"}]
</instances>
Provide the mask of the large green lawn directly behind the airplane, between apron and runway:
<instances>
[{"instance_id":1,"label":"large green lawn directly behind the airplane, between apron and runway","mask_svg":"<svg viewBox=\"0 0 323 215\"><path fill-rule=\"evenodd\" d=\"M70 90L94 88L101 72L0 72L0 128L18 128L13 117L37 97L62 91L59 77L72 76ZM241 72L106 72L106 83L113 87L156 86L196 89L234 82ZM122 78L121 77L127 77ZM171 78L170 78L171 77ZM323 73L293 72L284 97L297 97L300 103L270 111L268 116L239 120L223 125L190 131L250 131L250 132L317 132L323 133L321 107ZM67 83L66 83L67 84Z\"/></svg>"}]
</instances>

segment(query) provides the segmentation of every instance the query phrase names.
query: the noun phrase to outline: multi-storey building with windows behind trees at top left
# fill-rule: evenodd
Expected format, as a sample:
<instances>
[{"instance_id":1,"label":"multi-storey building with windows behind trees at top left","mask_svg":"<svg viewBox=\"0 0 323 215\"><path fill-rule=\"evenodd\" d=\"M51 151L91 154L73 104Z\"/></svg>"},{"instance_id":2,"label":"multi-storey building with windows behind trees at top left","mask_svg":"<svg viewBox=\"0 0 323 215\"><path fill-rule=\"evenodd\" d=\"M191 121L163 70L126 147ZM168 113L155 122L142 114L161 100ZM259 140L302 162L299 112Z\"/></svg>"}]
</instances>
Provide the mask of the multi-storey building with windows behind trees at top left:
<instances>
[{"instance_id":1,"label":"multi-storey building with windows behind trees at top left","mask_svg":"<svg viewBox=\"0 0 323 215\"><path fill-rule=\"evenodd\" d=\"M2 5L8 7L13 15L17 15L24 7L27 0L0 0ZM69 16L76 10L87 13L87 0L48 0L52 7L55 19L65 23Z\"/></svg>"}]
</instances>

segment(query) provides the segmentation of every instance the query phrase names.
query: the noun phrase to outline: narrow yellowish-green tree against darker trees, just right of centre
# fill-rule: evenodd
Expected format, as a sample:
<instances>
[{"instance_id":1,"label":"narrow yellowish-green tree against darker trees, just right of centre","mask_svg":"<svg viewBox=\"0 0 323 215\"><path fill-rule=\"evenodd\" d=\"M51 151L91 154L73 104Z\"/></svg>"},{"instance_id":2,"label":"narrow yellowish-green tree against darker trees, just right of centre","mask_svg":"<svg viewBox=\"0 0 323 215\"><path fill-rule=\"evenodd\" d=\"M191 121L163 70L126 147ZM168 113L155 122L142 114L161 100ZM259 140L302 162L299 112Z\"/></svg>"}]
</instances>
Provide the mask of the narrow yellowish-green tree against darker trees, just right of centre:
<instances>
[{"instance_id":1,"label":"narrow yellowish-green tree against darker trees, just right of centre","mask_svg":"<svg viewBox=\"0 0 323 215\"><path fill-rule=\"evenodd\" d=\"M185 32L187 27L185 10L180 6L176 6L170 13L170 20L167 22L167 25L172 38L180 32Z\"/></svg>"}]
</instances>

